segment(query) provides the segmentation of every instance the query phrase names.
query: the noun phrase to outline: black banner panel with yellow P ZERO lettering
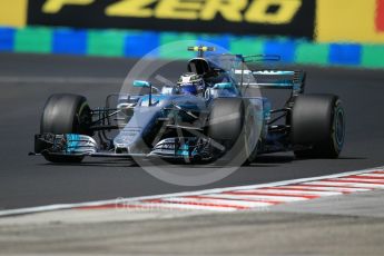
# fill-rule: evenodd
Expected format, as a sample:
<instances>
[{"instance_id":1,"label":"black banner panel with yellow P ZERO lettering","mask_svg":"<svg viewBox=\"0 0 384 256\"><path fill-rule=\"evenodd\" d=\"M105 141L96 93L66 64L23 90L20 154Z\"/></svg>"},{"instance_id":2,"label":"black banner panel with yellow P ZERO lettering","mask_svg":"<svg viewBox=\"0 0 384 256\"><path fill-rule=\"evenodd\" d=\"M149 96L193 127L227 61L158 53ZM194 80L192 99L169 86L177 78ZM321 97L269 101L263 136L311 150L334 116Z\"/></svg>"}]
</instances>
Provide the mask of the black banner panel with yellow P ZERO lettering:
<instances>
[{"instance_id":1,"label":"black banner panel with yellow P ZERO lettering","mask_svg":"<svg viewBox=\"0 0 384 256\"><path fill-rule=\"evenodd\" d=\"M312 39L315 1L29 0L26 22L32 26L279 35Z\"/></svg>"}]
</instances>

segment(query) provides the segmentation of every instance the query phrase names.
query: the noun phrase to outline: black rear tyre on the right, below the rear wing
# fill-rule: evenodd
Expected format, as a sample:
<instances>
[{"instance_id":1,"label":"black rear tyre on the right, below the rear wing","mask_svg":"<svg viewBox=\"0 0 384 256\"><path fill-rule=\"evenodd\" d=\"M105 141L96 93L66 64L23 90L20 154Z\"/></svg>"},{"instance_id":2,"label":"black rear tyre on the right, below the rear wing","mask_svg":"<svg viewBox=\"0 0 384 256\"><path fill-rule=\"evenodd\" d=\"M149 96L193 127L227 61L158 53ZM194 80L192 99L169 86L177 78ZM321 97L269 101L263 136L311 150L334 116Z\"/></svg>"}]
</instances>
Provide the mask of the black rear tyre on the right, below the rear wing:
<instances>
[{"instance_id":1,"label":"black rear tyre on the right, below the rear wing","mask_svg":"<svg viewBox=\"0 0 384 256\"><path fill-rule=\"evenodd\" d=\"M298 96L293 107L291 125L296 157L338 157L344 144L345 115L337 96Z\"/></svg>"}]
</instances>

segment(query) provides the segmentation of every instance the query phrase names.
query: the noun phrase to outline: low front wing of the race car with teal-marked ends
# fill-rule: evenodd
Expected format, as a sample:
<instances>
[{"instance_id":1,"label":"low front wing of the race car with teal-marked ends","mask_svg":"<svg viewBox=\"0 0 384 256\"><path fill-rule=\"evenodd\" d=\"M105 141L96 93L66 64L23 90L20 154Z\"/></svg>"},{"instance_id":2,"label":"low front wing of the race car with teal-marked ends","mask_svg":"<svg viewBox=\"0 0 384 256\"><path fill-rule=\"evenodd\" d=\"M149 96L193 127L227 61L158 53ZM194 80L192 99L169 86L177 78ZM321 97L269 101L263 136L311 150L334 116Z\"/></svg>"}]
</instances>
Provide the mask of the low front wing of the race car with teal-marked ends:
<instances>
[{"instance_id":1,"label":"low front wing of the race car with teal-marked ends","mask_svg":"<svg viewBox=\"0 0 384 256\"><path fill-rule=\"evenodd\" d=\"M99 146L92 137L86 135L53 135L43 134L35 136L35 152L30 155L56 156L89 156L100 158L167 158L190 160L209 160L217 152L217 146L209 138L166 138L160 140L151 149L140 152L115 152L99 150ZM221 148L221 151L225 149ZM146 152L147 151L147 152Z\"/></svg>"}]
</instances>

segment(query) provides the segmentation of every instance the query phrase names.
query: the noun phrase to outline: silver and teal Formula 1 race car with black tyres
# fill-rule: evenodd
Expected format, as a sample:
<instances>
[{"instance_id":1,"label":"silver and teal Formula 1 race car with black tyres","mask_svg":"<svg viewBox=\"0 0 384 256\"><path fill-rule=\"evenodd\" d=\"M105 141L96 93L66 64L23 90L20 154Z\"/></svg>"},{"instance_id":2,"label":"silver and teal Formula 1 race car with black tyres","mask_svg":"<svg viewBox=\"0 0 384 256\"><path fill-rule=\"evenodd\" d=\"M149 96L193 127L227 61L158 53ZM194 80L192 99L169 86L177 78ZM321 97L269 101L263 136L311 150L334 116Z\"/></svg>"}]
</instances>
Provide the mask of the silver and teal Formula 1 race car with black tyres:
<instances>
[{"instance_id":1,"label":"silver and teal Formula 1 race car with black tyres","mask_svg":"<svg viewBox=\"0 0 384 256\"><path fill-rule=\"evenodd\" d=\"M304 71L248 68L278 56L219 55L201 46L188 50L198 57L188 61L188 72L177 83L156 87L135 80L131 86L147 92L119 93L115 108L109 107L114 95L96 109L82 96L52 95L32 155L51 163L91 156L238 165L289 150L299 158L338 157L345 130L342 102L334 95L304 95ZM273 109L260 88L291 92L283 108Z\"/></svg>"}]
</instances>

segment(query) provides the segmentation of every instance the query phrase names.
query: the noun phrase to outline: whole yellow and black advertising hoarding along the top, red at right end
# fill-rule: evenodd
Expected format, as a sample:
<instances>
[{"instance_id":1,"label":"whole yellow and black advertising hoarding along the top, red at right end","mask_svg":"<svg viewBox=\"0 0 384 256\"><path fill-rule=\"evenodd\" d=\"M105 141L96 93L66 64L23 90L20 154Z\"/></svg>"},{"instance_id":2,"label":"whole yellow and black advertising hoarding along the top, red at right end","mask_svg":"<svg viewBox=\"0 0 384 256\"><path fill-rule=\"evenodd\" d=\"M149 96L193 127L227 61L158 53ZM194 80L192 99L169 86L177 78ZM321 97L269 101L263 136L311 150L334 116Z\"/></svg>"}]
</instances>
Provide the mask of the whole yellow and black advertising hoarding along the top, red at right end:
<instances>
[{"instance_id":1,"label":"whole yellow and black advertising hoarding along the top, red at right end","mask_svg":"<svg viewBox=\"0 0 384 256\"><path fill-rule=\"evenodd\" d=\"M1 0L0 26L287 36L384 43L384 0Z\"/></svg>"}]
</instances>

